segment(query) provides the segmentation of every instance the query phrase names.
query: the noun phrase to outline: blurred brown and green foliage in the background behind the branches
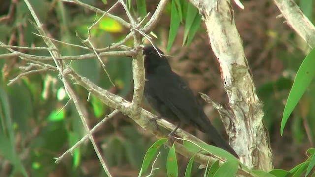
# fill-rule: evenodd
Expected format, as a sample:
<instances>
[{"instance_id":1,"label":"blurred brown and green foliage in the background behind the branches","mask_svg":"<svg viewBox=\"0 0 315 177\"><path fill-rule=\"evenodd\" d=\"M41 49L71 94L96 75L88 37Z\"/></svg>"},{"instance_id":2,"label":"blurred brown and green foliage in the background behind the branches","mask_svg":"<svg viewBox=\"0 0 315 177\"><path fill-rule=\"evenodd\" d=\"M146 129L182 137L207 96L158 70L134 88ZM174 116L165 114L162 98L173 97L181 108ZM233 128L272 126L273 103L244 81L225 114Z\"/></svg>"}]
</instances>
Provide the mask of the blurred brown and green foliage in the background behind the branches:
<instances>
[{"instance_id":1,"label":"blurred brown and green foliage in the background behind the branches","mask_svg":"<svg viewBox=\"0 0 315 177\"><path fill-rule=\"evenodd\" d=\"M314 22L312 13L314 7L305 5L306 1L301 0L298 3ZM86 37L86 28L95 19L95 13L74 4L51 0L30 2L45 29L49 31L50 37L63 42L80 44L75 32L77 31L82 38ZM107 10L116 1L108 0L107 4L101 0L82 2ZM277 18L280 12L271 1L256 0L242 3L245 6L244 10L232 4L234 18L243 40L258 96L264 102L264 122L270 133L274 165L276 168L291 169L303 162L307 158L306 150L314 146L314 84L311 84L289 118L284 135L280 136L279 133L285 101L297 69L306 55L307 46L284 23L283 18ZM32 33L37 32L29 22L32 16L23 1L0 0L0 4L0 41L16 46L45 46L43 40ZM147 11L153 12L157 4L157 0L150 1ZM132 1L131 6L136 7L135 1ZM155 45L165 52L170 8L169 3L153 31L158 36L158 39L154 39ZM127 20L121 5L117 5L111 13ZM128 32L129 29L124 29L117 22L104 18L100 25L92 30L92 41L97 48L107 47L123 39ZM174 56L169 57L173 70L187 80L196 95L203 92L216 102L226 105L228 99L223 88L219 63L209 50L209 39L204 25L198 29L188 47L182 47L183 33L184 25L181 24L173 47L167 52ZM55 44L64 56L89 53L87 50L66 44L58 42ZM132 41L127 42L127 45L132 44ZM48 52L43 50L18 50L49 56ZM7 51L0 49L0 54L4 53ZM133 93L131 59L115 56L102 59L115 87L96 59L74 60L71 66L100 87L131 100ZM7 83L21 72L19 67L26 64L25 60L17 57L0 59L0 176L19 177L23 169L30 176L38 177L104 176L95 151L88 141L75 150L72 157L68 156L60 164L54 163L53 158L59 157L74 145L85 135L85 131L74 105L70 103L63 108L68 98L56 73L29 75L7 86ZM87 101L88 92L82 87L75 84L72 87L88 112L90 127L95 126L113 111L94 96ZM223 133L218 113L201 98L200 101L204 104L208 117ZM145 100L142 107L153 111ZM203 137L204 135L196 132L194 128L184 128L207 140L207 137ZM130 118L118 114L95 133L95 140L111 173L115 177L130 177L137 176L142 158L156 138L143 131ZM163 153L164 151L162 149L157 165L160 167L160 176L165 176L164 159L167 154ZM188 159L183 157L178 159L179 168L185 169ZM194 173L202 174L197 166Z\"/></svg>"}]
</instances>

